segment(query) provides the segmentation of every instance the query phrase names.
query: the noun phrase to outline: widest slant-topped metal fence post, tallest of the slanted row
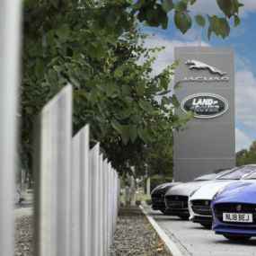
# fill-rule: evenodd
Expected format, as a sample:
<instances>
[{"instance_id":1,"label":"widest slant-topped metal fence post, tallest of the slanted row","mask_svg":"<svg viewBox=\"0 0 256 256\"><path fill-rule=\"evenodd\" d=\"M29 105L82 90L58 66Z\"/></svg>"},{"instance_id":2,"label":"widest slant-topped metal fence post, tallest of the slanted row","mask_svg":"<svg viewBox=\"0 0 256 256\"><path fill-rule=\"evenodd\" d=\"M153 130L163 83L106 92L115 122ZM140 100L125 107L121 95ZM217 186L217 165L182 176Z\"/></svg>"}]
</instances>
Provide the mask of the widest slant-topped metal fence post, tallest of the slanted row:
<instances>
[{"instance_id":1,"label":"widest slant-topped metal fence post, tallest of the slanted row","mask_svg":"<svg viewBox=\"0 0 256 256\"><path fill-rule=\"evenodd\" d=\"M43 108L37 131L35 252L70 256L72 86Z\"/></svg>"}]
</instances>

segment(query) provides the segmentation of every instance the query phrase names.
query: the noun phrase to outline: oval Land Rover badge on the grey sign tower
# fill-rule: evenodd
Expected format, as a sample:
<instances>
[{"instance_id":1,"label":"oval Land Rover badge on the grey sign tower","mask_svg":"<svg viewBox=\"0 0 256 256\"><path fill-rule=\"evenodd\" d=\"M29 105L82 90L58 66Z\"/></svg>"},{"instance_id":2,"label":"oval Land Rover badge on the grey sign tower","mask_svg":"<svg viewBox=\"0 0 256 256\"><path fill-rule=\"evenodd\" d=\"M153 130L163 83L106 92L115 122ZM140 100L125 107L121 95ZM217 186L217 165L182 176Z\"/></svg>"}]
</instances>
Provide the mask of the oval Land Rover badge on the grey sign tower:
<instances>
[{"instance_id":1,"label":"oval Land Rover badge on the grey sign tower","mask_svg":"<svg viewBox=\"0 0 256 256\"><path fill-rule=\"evenodd\" d=\"M194 112L199 119L212 119L225 113L228 103L225 98L213 93L192 94L181 102L181 110Z\"/></svg>"}]
</instances>

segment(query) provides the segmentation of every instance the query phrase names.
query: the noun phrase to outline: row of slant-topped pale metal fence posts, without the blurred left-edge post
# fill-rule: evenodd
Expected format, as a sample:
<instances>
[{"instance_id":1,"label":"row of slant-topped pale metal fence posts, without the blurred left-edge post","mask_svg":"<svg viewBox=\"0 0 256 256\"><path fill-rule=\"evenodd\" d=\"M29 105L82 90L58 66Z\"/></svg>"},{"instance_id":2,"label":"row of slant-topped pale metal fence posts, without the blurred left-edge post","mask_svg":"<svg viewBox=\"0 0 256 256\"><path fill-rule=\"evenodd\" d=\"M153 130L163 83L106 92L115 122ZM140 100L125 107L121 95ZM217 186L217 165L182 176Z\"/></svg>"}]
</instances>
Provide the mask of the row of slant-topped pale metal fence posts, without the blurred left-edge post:
<instances>
[{"instance_id":1,"label":"row of slant-topped pale metal fence posts, without the blurred left-edge post","mask_svg":"<svg viewBox=\"0 0 256 256\"><path fill-rule=\"evenodd\" d=\"M35 175L36 255L105 256L117 221L119 178L89 127L72 138L72 86L41 111Z\"/></svg>"}]
</instances>

